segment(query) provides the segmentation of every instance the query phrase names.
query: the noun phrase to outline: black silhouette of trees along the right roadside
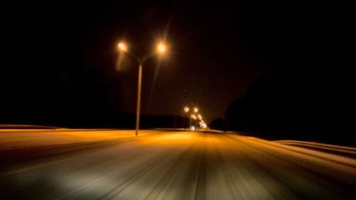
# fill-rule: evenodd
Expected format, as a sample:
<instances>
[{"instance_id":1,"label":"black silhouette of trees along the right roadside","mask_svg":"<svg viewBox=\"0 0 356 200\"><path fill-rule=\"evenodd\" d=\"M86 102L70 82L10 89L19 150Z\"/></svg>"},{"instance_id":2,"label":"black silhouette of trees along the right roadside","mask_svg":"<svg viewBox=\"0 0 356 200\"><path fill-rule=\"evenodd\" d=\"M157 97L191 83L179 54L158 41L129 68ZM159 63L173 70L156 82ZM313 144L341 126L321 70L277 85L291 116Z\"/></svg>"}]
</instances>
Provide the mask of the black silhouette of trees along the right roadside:
<instances>
[{"instance_id":1,"label":"black silhouette of trees along the right roadside","mask_svg":"<svg viewBox=\"0 0 356 200\"><path fill-rule=\"evenodd\" d=\"M330 75L330 76L329 76ZM317 78L318 77L318 78ZM330 79L332 78L333 79ZM356 144L352 75L287 73L263 77L227 107L220 130L240 130L271 140Z\"/></svg>"}]
</instances>

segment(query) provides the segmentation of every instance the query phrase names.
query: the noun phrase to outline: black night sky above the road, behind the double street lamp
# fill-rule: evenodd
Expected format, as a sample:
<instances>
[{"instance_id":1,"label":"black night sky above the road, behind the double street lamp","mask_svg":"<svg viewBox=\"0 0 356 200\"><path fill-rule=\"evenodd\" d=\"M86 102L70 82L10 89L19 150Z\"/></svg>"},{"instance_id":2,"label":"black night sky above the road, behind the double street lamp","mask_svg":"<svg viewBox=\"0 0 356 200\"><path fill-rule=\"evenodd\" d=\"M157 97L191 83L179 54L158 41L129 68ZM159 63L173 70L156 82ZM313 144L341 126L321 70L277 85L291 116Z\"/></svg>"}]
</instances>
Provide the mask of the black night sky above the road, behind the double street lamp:
<instances>
[{"instance_id":1,"label":"black night sky above the road, behind the double street lamp","mask_svg":"<svg viewBox=\"0 0 356 200\"><path fill-rule=\"evenodd\" d=\"M323 69L338 81L349 70L335 64L352 56L338 53L350 47L354 16L334 4L0 4L1 110L13 117L93 105L135 112L137 64L119 59L122 39L138 56L158 40L169 44L167 56L144 65L143 113L179 115L192 102L207 122L261 76Z\"/></svg>"}]
</instances>

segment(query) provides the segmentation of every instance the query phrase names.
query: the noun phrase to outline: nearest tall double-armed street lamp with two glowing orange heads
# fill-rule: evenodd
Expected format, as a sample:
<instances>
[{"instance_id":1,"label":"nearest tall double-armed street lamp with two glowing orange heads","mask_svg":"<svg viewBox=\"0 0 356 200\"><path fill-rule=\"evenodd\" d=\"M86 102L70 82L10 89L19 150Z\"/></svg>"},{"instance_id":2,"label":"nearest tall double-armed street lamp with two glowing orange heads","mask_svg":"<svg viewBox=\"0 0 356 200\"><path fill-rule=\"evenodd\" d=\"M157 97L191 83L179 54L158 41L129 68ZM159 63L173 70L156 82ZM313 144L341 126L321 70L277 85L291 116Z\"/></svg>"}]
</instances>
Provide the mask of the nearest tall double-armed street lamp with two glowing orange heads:
<instances>
[{"instance_id":1,"label":"nearest tall double-armed street lamp with two glowing orange heads","mask_svg":"<svg viewBox=\"0 0 356 200\"><path fill-rule=\"evenodd\" d=\"M136 106L136 132L135 135L138 135L138 130L140 129L140 105L141 105L141 85L142 85L142 65L145 63L147 58L150 58L155 55L152 54L150 56L145 56L144 58L140 59L134 53L128 50L126 43L120 42L117 44L119 51L122 53L128 53L130 56L136 58L138 65L138 80L137 80L137 106ZM157 44L157 53L162 55L167 50L167 46L161 41Z\"/></svg>"}]
</instances>

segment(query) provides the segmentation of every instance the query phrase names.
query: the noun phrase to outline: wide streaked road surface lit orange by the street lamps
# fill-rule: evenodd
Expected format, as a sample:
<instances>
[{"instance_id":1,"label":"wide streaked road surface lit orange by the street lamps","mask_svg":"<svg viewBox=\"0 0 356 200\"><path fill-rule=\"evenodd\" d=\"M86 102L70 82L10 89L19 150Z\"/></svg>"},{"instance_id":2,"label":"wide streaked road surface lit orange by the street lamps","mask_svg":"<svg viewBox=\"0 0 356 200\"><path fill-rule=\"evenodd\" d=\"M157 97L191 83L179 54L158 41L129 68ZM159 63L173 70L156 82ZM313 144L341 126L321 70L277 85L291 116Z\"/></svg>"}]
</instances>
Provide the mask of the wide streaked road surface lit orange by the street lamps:
<instances>
[{"instance_id":1,"label":"wide streaked road surface lit orange by the street lamps","mask_svg":"<svg viewBox=\"0 0 356 200\"><path fill-rule=\"evenodd\" d=\"M356 160L340 154L217 132L132 133L0 132L0 199L356 199Z\"/></svg>"}]
</instances>

